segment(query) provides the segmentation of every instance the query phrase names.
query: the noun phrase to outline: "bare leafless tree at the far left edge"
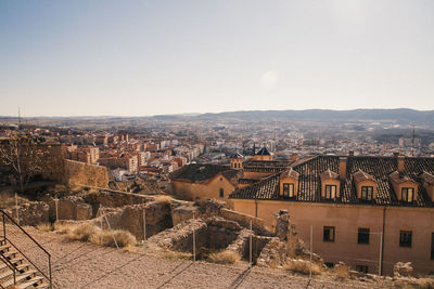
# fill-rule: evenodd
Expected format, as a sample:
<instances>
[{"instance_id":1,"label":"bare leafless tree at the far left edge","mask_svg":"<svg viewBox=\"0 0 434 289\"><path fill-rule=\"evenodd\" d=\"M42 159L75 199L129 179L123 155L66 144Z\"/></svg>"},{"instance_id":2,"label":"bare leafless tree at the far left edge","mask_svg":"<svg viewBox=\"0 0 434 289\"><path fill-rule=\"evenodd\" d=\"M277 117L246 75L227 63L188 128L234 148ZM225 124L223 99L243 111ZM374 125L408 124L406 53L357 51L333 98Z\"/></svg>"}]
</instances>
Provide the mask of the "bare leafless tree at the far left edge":
<instances>
[{"instance_id":1,"label":"bare leafless tree at the far left edge","mask_svg":"<svg viewBox=\"0 0 434 289\"><path fill-rule=\"evenodd\" d=\"M24 193L30 179L42 170L44 157L49 154L42 142L41 137L15 132L0 140L0 163L10 167L21 193Z\"/></svg>"}]
</instances>

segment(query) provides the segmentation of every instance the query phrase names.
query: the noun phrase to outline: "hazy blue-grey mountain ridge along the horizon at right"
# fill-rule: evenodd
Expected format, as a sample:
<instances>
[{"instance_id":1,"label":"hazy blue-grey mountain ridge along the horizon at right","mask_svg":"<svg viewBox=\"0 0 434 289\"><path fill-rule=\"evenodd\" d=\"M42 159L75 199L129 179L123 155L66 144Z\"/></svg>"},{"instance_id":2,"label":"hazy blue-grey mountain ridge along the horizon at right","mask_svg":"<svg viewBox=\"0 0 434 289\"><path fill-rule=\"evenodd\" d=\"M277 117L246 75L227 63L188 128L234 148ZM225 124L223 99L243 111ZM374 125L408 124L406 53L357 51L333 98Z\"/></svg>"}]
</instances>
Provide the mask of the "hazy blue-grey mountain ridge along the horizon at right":
<instances>
[{"instance_id":1,"label":"hazy blue-grey mountain ridge along the horizon at right","mask_svg":"<svg viewBox=\"0 0 434 289\"><path fill-rule=\"evenodd\" d=\"M399 124L424 124L434 126L434 110L414 110L408 108L398 109L353 109L353 110L332 110L332 109L306 109L306 110L248 110L248 111L227 111L218 114L201 114L192 116L165 115L154 116L156 119L176 120L182 118L218 121L224 119L238 119L244 121L260 120L303 120L320 122L393 122Z\"/></svg>"}]
</instances>

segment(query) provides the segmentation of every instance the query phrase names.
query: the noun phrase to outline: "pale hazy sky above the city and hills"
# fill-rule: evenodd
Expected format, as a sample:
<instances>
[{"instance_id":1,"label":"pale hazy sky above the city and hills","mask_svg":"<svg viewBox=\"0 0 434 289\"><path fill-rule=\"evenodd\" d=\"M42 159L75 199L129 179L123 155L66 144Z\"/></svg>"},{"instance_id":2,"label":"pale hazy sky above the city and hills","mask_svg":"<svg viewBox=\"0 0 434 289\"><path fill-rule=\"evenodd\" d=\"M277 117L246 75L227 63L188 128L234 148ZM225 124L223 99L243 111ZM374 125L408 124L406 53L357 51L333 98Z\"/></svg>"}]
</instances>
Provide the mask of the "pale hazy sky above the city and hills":
<instances>
[{"instance_id":1,"label":"pale hazy sky above the city and hills","mask_svg":"<svg viewBox=\"0 0 434 289\"><path fill-rule=\"evenodd\" d=\"M434 109L433 0L0 1L0 115Z\"/></svg>"}]
</instances>

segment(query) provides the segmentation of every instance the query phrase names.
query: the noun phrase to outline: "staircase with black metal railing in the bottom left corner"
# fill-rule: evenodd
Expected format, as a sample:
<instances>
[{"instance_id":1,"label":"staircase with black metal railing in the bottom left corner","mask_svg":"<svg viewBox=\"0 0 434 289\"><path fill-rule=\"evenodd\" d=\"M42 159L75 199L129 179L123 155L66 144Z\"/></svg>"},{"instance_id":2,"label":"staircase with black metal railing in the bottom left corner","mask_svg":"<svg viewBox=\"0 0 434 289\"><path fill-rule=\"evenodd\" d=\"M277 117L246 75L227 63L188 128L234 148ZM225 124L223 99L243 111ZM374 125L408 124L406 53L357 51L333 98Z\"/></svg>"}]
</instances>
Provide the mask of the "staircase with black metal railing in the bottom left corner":
<instances>
[{"instance_id":1,"label":"staircase with black metal railing in the bottom left corner","mask_svg":"<svg viewBox=\"0 0 434 289\"><path fill-rule=\"evenodd\" d=\"M51 254L3 210L0 216L0 289L52 288Z\"/></svg>"}]
</instances>

